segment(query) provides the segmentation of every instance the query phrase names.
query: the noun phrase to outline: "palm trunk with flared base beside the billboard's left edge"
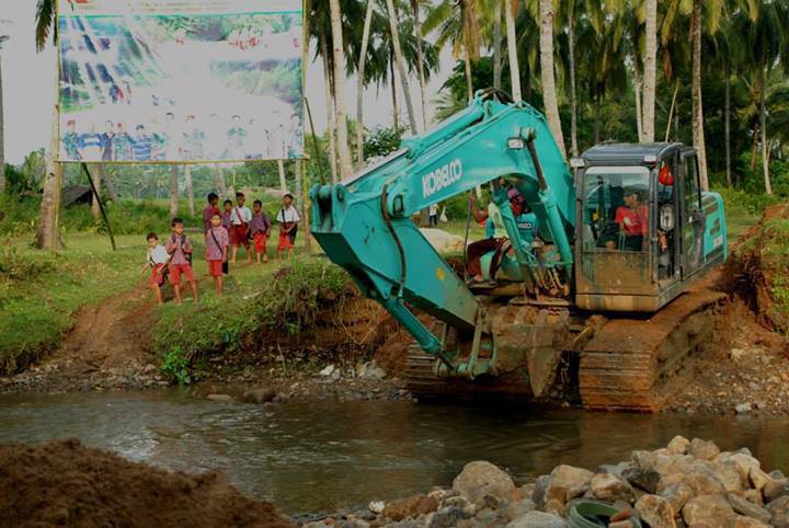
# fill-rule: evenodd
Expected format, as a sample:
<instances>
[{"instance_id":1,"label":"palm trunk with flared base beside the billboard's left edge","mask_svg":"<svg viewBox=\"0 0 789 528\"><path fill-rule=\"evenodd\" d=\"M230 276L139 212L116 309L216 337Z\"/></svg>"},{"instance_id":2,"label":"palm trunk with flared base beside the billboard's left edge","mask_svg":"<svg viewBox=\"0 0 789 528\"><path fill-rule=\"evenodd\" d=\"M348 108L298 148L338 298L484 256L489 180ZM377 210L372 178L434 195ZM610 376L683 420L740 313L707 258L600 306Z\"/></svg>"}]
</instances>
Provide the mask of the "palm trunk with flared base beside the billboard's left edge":
<instances>
[{"instance_id":1,"label":"palm trunk with flared base beside the billboard's left edge","mask_svg":"<svg viewBox=\"0 0 789 528\"><path fill-rule=\"evenodd\" d=\"M49 131L49 149L46 152L46 180L42 196L38 227L34 245L39 249L56 251L62 246L60 240L60 190L62 186L62 164L58 163L58 91L55 90L55 107Z\"/></svg>"}]
</instances>

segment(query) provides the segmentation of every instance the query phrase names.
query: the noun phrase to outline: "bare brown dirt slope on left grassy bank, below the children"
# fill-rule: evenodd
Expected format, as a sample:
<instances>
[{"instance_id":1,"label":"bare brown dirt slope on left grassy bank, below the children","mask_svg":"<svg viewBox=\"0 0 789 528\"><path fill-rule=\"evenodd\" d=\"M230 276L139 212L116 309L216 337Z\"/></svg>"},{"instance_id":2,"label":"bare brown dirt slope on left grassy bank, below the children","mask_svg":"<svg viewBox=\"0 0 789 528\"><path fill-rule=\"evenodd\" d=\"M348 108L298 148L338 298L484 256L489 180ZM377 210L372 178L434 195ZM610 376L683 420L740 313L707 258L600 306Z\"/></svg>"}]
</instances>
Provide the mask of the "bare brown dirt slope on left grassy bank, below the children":
<instances>
[{"instance_id":1,"label":"bare brown dirt slope on left grassy bank, below the children","mask_svg":"<svg viewBox=\"0 0 789 528\"><path fill-rule=\"evenodd\" d=\"M26 371L4 378L0 391L142 388L161 382L149 352L155 305L146 286L141 280L128 291L81 308L60 347Z\"/></svg>"}]
</instances>

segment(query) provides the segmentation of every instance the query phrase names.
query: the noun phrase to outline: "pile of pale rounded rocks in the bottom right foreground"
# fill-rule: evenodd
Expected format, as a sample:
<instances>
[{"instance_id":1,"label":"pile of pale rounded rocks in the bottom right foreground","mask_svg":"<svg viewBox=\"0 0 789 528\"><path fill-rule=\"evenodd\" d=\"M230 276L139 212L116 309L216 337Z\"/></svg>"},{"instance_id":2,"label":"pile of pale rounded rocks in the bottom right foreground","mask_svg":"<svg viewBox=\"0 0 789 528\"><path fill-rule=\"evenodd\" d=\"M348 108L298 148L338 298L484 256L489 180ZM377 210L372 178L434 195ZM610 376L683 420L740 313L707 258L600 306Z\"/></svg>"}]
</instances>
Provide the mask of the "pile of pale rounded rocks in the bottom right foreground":
<instances>
[{"instance_id":1,"label":"pile of pale rounded rocks in the bottom right foreground","mask_svg":"<svg viewBox=\"0 0 789 528\"><path fill-rule=\"evenodd\" d=\"M558 466L516 486L500 468L467 464L450 489L434 489L320 520L305 528L758 528L789 527L789 479L767 472L746 449L720 451L711 441L672 439L632 451L630 460L595 471ZM611 514L581 519L584 505ZM584 521L586 524L584 524Z\"/></svg>"}]
</instances>

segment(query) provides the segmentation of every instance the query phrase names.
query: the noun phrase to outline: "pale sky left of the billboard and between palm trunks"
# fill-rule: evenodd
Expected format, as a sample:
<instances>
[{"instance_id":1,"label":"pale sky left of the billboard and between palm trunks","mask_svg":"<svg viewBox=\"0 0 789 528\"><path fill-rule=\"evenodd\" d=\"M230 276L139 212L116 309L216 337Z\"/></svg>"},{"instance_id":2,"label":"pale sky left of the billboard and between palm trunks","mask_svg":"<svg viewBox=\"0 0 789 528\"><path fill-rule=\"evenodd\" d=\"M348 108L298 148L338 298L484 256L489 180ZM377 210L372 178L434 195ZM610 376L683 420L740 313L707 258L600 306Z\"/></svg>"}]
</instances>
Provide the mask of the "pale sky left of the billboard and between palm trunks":
<instances>
[{"instance_id":1,"label":"pale sky left of the billboard and between palm trunks","mask_svg":"<svg viewBox=\"0 0 789 528\"><path fill-rule=\"evenodd\" d=\"M52 122L52 110L56 95L56 54L48 45L36 53L34 41L34 0L0 0L0 35L9 35L0 50L0 67L3 81L3 111L5 129L5 159L20 163L32 150L45 147ZM315 54L310 54L310 58ZM426 89L427 112L432 113L431 101L451 72L454 60L450 50L441 56L441 71L435 74ZM414 76L415 77L415 76ZM420 119L419 81L409 80L414 101L414 111ZM308 62L306 95L312 110L315 126L320 134L325 129L327 112L323 89L323 68L320 61ZM398 83L398 99L402 102ZM399 103L401 104L401 103ZM356 79L348 78L345 90L345 108L356 115ZM388 85L370 87L365 93L365 126L393 123L391 91ZM401 108L401 123L407 123ZM428 115L428 120L432 115Z\"/></svg>"}]
</instances>

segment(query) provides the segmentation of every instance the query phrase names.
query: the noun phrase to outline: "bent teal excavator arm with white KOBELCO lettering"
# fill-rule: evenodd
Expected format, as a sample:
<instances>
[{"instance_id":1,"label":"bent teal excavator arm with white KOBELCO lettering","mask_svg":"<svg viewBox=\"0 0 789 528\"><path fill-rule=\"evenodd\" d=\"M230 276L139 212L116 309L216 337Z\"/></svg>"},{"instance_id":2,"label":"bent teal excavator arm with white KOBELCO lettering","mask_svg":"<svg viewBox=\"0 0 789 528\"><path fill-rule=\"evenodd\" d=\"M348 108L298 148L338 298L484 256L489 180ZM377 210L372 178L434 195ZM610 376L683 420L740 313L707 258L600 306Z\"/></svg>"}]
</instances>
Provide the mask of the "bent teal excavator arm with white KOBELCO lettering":
<instances>
[{"instance_id":1,"label":"bent teal excavator arm with white KOBELCO lettering","mask_svg":"<svg viewBox=\"0 0 789 528\"><path fill-rule=\"evenodd\" d=\"M316 185L312 233L327 255L362 291L380 302L427 353L444 342L410 307L430 313L479 343L484 311L450 265L433 249L413 215L432 204L506 177L537 215L550 259L535 259L518 232L506 190L493 193L515 259L530 276L546 268L571 276L575 220L572 176L545 117L525 103L503 104L481 94L433 130L335 185Z\"/></svg>"}]
</instances>

